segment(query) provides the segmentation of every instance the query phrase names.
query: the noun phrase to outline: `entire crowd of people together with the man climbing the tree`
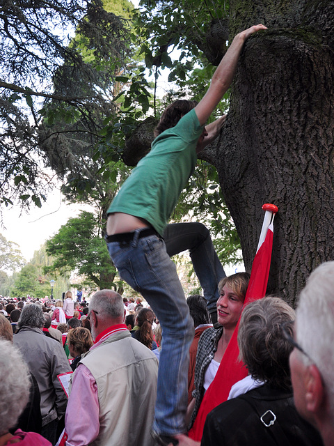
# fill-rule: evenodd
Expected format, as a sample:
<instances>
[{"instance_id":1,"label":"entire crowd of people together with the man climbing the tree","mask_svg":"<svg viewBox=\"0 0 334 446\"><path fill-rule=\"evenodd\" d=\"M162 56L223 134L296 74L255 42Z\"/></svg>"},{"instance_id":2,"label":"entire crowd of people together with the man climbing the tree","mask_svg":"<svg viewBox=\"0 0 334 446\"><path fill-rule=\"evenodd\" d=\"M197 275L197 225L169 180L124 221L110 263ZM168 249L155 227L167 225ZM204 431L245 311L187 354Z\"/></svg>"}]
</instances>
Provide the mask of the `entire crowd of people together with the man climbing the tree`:
<instances>
[{"instance_id":1,"label":"entire crowd of people together with the man climbing the tree","mask_svg":"<svg viewBox=\"0 0 334 446\"><path fill-rule=\"evenodd\" d=\"M312 272L296 314L275 296L244 305L249 275L225 277L205 226L167 224L196 154L221 132L225 116L205 124L244 43L266 29L237 34L199 103L167 107L109 207L109 254L148 307L111 290L88 306L81 291L0 302L0 446L334 445L334 262ZM204 294L188 300L170 260L184 249ZM198 442L187 433L238 324L247 376Z\"/></svg>"}]
</instances>

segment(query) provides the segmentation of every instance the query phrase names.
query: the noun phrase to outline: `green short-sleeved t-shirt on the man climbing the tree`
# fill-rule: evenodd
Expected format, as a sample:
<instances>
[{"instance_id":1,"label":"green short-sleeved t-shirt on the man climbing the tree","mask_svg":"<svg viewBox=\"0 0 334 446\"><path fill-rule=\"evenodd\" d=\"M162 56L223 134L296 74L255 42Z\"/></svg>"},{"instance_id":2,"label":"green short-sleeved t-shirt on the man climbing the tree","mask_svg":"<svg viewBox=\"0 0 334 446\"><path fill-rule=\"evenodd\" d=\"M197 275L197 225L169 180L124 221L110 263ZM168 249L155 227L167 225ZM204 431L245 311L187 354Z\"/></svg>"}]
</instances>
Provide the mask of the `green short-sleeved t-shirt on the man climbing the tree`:
<instances>
[{"instance_id":1,"label":"green short-sleeved t-shirt on the man climbing the tree","mask_svg":"<svg viewBox=\"0 0 334 446\"><path fill-rule=\"evenodd\" d=\"M138 162L120 188L108 213L141 217L159 234L164 233L180 193L196 167L196 146L202 130L192 109L175 127L159 134L150 153Z\"/></svg>"}]
</instances>

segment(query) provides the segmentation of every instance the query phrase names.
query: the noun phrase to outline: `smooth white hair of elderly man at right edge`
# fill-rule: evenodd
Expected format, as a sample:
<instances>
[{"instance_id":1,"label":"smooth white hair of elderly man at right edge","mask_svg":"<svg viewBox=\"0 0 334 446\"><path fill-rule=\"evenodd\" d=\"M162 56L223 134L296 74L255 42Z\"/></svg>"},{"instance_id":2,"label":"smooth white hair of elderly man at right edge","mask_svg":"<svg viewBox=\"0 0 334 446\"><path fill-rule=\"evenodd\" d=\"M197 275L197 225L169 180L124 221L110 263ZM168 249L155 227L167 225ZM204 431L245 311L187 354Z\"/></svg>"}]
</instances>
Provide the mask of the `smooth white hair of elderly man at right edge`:
<instances>
[{"instance_id":1,"label":"smooth white hair of elderly man at right edge","mask_svg":"<svg viewBox=\"0 0 334 446\"><path fill-rule=\"evenodd\" d=\"M324 380L334 419L334 261L322 263L301 291L296 310L296 341L305 365L314 363Z\"/></svg>"}]
</instances>

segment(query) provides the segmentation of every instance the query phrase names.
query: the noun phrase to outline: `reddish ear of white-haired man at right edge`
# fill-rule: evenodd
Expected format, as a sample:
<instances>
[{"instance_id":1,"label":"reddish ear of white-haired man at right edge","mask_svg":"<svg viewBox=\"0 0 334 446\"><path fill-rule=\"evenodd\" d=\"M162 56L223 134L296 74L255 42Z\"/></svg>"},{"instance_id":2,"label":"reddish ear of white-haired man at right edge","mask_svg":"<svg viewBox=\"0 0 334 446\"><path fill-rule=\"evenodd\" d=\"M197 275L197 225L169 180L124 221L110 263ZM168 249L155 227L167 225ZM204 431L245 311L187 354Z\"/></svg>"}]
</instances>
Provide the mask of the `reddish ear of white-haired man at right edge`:
<instances>
[{"instance_id":1,"label":"reddish ear of white-haired man at right edge","mask_svg":"<svg viewBox=\"0 0 334 446\"><path fill-rule=\"evenodd\" d=\"M324 385L315 364L311 364L304 376L306 408L310 413L319 413L325 403Z\"/></svg>"}]
</instances>

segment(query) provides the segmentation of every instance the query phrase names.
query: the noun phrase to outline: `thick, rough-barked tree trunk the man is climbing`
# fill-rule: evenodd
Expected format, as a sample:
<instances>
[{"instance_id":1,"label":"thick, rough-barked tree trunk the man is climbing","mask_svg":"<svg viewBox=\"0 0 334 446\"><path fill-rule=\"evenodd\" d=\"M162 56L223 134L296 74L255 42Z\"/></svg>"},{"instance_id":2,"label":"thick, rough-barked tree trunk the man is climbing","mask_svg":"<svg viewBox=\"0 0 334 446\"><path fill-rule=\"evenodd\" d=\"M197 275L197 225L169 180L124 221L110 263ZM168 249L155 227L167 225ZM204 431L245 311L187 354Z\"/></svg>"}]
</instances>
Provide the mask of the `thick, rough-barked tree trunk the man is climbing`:
<instances>
[{"instance_id":1,"label":"thick, rough-barked tree trunk the man is climbing","mask_svg":"<svg viewBox=\"0 0 334 446\"><path fill-rule=\"evenodd\" d=\"M334 3L230 0L230 34L248 40L212 162L250 271L263 203L278 206L269 288L294 305L334 259Z\"/></svg>"}]
</instances>

